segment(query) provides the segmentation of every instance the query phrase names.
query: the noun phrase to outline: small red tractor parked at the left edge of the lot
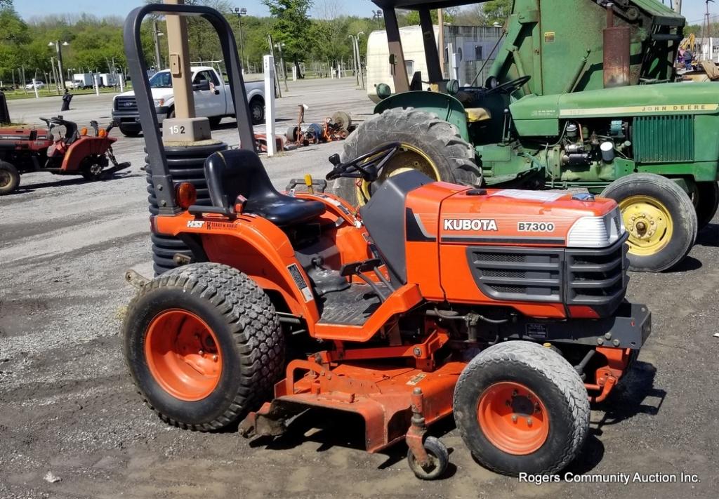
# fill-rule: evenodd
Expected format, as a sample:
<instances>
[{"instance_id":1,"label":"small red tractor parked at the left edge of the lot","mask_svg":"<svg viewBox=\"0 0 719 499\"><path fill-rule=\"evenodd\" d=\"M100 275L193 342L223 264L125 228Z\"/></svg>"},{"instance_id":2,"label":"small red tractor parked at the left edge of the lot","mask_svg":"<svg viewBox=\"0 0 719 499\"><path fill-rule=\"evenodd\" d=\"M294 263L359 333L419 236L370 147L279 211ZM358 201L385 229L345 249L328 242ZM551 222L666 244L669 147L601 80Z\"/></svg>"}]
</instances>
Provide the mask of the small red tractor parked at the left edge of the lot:
<instances>
[{"instance_id":1,"label":"small red tractor parked at the left edge of the lot","mask_svg":"<svg viewBox=\"0 0 719 499\"><path fill-rule=\"evenodd\" d=\"M94 134L90 135L88 129L78 130L77 124L63 116L40 119L47 128L0 128L0 196L17 190L22 173L41 171L98 180L129 167L129 162L118 163L112 152L117 139L109 137L109 132L114 123L100 129L93 121ZM55 127L63 127L64 134L55 137Z\"/></svg>"}]
</instances>

